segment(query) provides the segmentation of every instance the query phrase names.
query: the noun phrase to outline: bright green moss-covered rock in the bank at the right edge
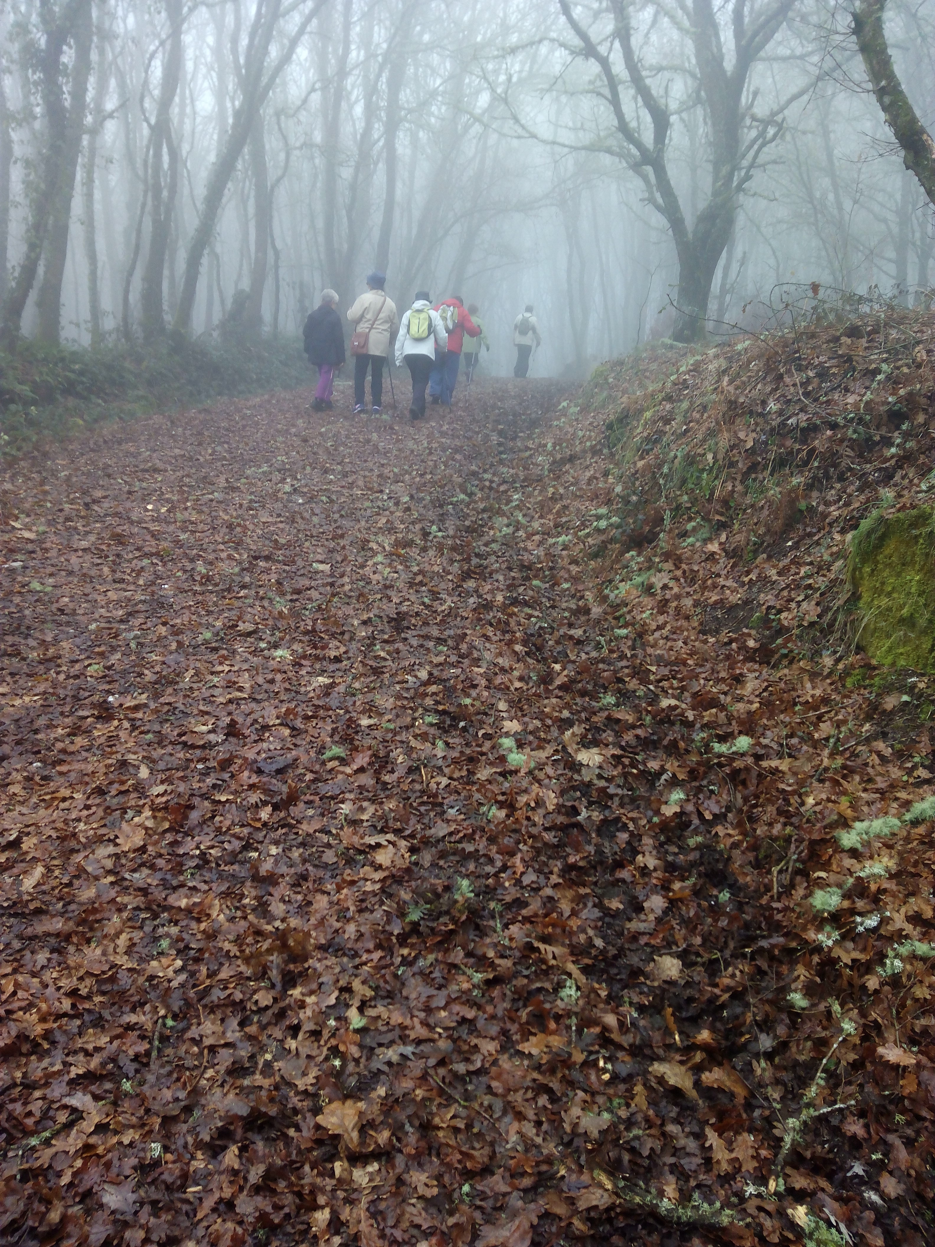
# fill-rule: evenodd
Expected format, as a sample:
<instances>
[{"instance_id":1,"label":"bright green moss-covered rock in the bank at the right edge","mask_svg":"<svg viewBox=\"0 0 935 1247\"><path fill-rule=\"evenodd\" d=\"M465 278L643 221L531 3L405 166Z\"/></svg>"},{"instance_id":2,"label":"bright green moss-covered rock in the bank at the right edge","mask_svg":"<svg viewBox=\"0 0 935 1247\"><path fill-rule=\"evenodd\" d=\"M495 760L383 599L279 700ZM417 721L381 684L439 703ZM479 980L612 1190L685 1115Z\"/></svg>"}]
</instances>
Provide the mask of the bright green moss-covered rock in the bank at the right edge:
<instances>
[{"instance_id":1,"label":"bright green moss-covered rock in the bank at the right edge","mask_svg":"<svg viewBox=\"0 0 935 1247\"><path fill-rule=\"evenodd\" d=\"M935 671L935 513L868 516L850 544L858 645L889 667Z\"/></svg>"}]
</instances>

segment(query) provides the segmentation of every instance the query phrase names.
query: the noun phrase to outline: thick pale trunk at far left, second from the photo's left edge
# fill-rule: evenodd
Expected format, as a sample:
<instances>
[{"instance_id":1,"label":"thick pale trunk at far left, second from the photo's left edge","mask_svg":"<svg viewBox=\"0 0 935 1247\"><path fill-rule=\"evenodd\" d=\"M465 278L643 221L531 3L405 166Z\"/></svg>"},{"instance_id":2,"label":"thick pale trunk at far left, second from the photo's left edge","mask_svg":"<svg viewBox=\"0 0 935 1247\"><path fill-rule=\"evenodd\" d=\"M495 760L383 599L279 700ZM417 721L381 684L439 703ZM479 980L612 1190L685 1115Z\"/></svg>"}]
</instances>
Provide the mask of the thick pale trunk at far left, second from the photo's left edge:
<instances>
[{"instance_id":1,"label":"thick pale trunk at far left, second from the photo's left edge","mask_svg":"<svg viewBox=\"0 0 935 1247\"><path fill-rule=\"evenodd\" d=\"M61 283L65 277L65 261L69 252L69 223L71 201L75 195L75 175L85 135L85 110L87 107L87 84L91 77L91 45L94 42L91 0L76 0L74 5L71 42L74 59L69 77L67 107L61 96L61 86L59 87L61 110L56 125L61 123L61 138L52 138L50 126L50 142L61 145L61 160L49 209L42 282L36 296L39 315L36 337L41 342L52 343L57 343L61 338Z\"/></svg>"}]
</instances>

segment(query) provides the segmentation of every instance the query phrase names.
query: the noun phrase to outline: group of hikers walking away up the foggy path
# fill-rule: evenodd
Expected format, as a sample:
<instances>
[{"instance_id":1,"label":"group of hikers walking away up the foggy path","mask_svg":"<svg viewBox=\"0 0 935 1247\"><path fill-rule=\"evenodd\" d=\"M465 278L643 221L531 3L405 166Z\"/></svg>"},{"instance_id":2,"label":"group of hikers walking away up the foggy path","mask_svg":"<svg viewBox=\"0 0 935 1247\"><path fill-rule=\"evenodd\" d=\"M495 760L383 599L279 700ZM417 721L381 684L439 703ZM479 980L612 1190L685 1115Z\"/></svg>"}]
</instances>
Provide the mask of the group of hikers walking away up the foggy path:
<instances>
[{"instance_id":1,"label":"group of hikers walking away up the foggy path","mask_svg":"<svg viewBox=\"0 0 935 1247\"><path fill-rule=\"evenodd\" d=\"M395 337L396 365L404 363L413 379L413 402L409 415L413 420L425 416L425 392L429 402L451 407L461 355L470 384L477 367L481 347L490 350L490 340L484 329L476 303L464 306L460 294L433 306L428 291L418 291L411 308L399 319L396 306L386 296L384 273L370 273L367 292L348 308L348 320L354 327L350 353L354 357L354 414L367 412L367 375L370 374L370 410L383 410L383 365L389 363L390 345ZM315 412L333 409L334 377L345 363L344 327L338 314L338 296L334 291L322 291L322 302L305 320L303 330L305 354L309 363L318 367L318 387L312 408ZM516 347L514 377L527 377L532 349L542 338L527 303L512 327Z\"/></svg>"}]
</instances>

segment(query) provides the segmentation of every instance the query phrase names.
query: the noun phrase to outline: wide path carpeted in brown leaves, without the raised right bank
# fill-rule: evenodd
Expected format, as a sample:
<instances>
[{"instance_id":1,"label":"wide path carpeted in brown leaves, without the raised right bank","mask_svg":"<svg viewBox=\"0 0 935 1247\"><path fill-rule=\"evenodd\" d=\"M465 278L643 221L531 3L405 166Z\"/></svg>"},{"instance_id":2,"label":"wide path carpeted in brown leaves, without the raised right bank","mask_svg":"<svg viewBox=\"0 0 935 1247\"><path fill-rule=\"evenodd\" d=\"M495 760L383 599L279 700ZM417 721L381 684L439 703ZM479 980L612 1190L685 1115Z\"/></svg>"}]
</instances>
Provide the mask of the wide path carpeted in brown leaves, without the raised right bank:
<instances>
[{"instance_id":1,"label":"wide path carpeted in brown leaves, without the raised right bank","mask_svg":"<svg viewBox=\"0 0 935 1247\"><path fill-rule=\"evenodd\" d=\"M794 1236L747 1190L783 938L686 837L734 796L682 757L696 660L641 703L563 550L561 398L272 395L6 470L5 1240ZM666 1230L693 1193L746 1223Z\"/></svg>"}]
</instances>

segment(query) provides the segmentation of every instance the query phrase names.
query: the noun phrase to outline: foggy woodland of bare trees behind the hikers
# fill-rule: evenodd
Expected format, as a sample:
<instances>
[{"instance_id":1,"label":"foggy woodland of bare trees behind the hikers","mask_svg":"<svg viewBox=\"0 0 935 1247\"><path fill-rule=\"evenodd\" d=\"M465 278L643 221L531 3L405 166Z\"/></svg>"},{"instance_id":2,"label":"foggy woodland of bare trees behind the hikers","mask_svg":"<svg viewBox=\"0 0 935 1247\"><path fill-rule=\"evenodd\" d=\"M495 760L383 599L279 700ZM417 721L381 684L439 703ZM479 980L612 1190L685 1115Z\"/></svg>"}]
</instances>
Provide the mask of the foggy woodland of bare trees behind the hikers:
<instances>
[{"instance_id":1,"label":"foggy woodland of bare trees behind the hikers","mask_svg":"<svg viewBox=\"0 0 935 1247\"><path fill-rule=\"evenodd\" d=\"M866 7L866 5L864 5ZM935 117L935 2L885 32ZM933 208L845 6L809 0L2 0L2 337L294 335L372 268L536 306L534 374L926 301Z\"/></svg>"}]
</instances>

